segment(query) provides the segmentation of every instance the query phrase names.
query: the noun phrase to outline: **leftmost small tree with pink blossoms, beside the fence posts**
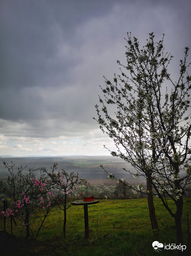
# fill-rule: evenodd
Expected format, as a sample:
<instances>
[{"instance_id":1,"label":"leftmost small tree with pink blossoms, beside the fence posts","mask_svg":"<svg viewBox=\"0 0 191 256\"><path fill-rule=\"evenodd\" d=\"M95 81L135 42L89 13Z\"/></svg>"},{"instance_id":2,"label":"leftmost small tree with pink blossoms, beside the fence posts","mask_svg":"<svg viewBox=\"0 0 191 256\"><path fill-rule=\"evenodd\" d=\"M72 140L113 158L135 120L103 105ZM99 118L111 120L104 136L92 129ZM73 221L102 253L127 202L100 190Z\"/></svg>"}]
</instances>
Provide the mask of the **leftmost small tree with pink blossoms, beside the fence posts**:
<instances>
[{"instance_id":1,"label":"leftmost small tree with pink blossoms, beside the fence posts","mask_svg":"<svg viewBox=\"0 0 191 256\"><path fill-rule=\"evenodd\" d=\"M20 226L26 230L26 238L37 239L48 213L51 212L56 203L51 184L43 173L37 178L37 170L29 169L29 171L24 172L26 167L21 166L17 174L15 174L12 162L11 165L5 162L3 164L11 178L9 184L4 184L3 181L0 181L0 188L9 198L10 207L1 213L6 217L12 215L17 218ZM31 228L31 225L34 224L34 219L40 221L36 235L34 235Z\"/></svg>"}]
</instances>

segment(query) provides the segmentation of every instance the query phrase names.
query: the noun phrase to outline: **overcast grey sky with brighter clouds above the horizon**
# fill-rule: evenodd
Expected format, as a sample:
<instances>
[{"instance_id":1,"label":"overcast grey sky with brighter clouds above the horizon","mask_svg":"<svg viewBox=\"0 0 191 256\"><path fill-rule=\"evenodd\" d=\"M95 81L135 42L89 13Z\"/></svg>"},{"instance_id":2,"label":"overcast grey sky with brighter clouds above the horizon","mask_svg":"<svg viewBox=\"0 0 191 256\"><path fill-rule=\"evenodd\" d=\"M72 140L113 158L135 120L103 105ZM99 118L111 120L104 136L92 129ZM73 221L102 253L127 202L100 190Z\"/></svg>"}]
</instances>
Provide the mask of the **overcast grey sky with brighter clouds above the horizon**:
<instances>
[{"instance_id":1,"label":"overcast grey sky with brighter clouds above the horizon","mask_svg":"<svg viewBox=\"0 0 191 256\"><path fill-rule=\"evenodd\" d=\"M0 155L109 154L92 117L127 32L140 45L164 33L176 70L191 47L191 1L1 0Z\"/></svg>"}]
</instances>

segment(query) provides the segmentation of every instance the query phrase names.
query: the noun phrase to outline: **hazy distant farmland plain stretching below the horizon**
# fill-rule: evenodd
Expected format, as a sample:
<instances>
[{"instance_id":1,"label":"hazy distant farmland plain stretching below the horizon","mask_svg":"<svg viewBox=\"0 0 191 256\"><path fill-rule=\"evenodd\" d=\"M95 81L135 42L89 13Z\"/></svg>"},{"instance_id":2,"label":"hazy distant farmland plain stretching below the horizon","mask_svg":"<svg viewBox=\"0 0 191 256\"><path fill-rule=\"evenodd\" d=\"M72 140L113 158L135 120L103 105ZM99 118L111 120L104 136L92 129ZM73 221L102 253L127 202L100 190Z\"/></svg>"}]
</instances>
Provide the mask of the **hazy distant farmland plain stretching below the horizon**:
<instances>
[{"instance_id":1,"label":"hazy distant farmland plain stretching below the horizon","mask_svg":"<svg viewBox=\"0 0 191 256\"><path fill-rule=\"evenodd\" d=\"M140 184L145 183L145 179L135 179L128 172L125 172L123 168L135 172L134 168L128 163L118 157L112 156L63 156L63 157L2 157L6 163L15 164L14 170L17 171L20 166L27 166L28 169L37 169L39 167L45 167L51 171L53 163L58 164L57 170L62 169L67 172L78 172L80 177L88 180L92 185L98 185L103 183L116 183L116 181L109 180L108 175L100 168L103 165L104 168L118 178L123 178L128 183ZM7 178L8 172L3 166L3 161L0 161L0 179Z\"/></svg>"}]
</instances>

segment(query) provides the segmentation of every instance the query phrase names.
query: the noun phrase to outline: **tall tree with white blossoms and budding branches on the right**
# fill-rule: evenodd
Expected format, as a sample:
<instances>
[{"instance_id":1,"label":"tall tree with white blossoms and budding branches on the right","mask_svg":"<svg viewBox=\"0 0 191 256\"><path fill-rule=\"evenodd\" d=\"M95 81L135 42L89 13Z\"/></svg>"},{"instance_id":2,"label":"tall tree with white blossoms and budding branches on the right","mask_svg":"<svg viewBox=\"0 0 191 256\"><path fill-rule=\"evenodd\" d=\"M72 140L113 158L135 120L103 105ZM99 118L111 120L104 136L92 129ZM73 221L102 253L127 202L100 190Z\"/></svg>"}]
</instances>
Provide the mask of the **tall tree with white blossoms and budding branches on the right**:
<instances>
[{"instance_id":1,"label":"tall tree with white blossoms and budding branches on the right","mask_svg":"<svg viewBox=\"0 0 191 256\"><path fill-rule=\"evenodd\" d=\"M164 35L155 42L150 33L140 49L138 39L127 33L127 63L117 61L121 73L114 74L113 81L104 77L105 87L100 86L103 99L99 96L102 107L95 106L96 120L114 141L116 151L107 148L111 155L130 163L135 177L145 177L147 186L134 189L148 195L152 225L156 224L152 220L152 198L156 196L174 217L177 243L183 244L182 196L191 185L191 76L187 72L191 63L187 62L186 47L179 77L173 81L167 70L173 56L164 51L163 39ZM110 105L116 107L115 112ZM175 210L169 207L167 197Z\"/></svg>"}]
</instances>

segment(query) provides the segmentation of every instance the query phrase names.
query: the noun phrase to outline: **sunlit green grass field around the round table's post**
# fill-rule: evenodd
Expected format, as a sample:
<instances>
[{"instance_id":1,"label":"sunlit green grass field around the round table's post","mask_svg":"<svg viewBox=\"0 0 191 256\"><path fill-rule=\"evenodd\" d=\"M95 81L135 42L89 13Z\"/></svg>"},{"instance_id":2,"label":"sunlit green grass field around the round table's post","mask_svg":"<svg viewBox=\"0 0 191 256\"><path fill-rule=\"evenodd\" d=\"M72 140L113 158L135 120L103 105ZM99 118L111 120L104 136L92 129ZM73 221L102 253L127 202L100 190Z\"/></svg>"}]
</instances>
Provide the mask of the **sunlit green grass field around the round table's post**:
<instances>
[{"instance_id":1,"label":"sunlit green grass field around the round table's post","mask_svg":"<svg viewBox=\"0 0 191 256\"><path fill-rule=\"evenodd\" d=\"M172 204L169 201L170 204ZM63 239L63 212L52 212L40 231L38 242L30 247L26 255L41 256L156 256L177 255L176 250L157 252L153 241L175 244L174 218L167 212L160 199L154 199L160 234L151 230L147 199L100 200L88 206L89 240L85 239L83 206L71 206L67 210L67 238ZM182 228L184 244L188 244L187 214L191 226L191 199L184 200ZM3 217L0 217L3 230ZM10 221L7 220L7 231ZM13 230L18 235L18 230ZM14 255L14 254L13 254Z\"/></svg>"}]
</instances>

